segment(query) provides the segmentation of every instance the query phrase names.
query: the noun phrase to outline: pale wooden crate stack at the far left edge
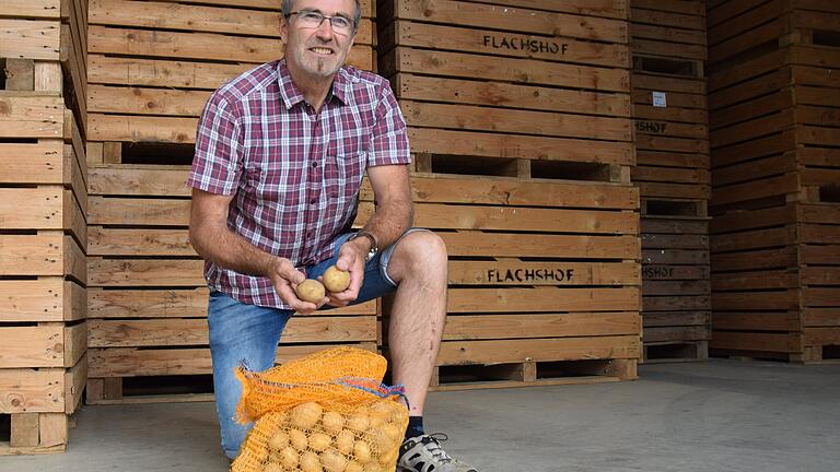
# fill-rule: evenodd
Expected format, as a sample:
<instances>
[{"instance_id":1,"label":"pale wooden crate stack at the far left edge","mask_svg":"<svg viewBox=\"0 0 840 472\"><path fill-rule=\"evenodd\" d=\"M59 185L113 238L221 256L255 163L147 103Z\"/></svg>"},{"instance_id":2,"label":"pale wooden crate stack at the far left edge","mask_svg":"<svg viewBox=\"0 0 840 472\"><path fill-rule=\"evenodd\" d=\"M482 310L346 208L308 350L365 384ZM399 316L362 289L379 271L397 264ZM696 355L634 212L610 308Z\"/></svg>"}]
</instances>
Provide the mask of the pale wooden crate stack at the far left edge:
<instances>
[{"instance_id":1,"label":"pale wooden crate stack at the far left edge","mask_svg":"<svg viewBox=\"0 0 840 472\"><path fill-rule=\"evenodd\" d=\"M63 450L86 377L85 19L0 5L0 455Z\"/></svg>"}]
</instances>

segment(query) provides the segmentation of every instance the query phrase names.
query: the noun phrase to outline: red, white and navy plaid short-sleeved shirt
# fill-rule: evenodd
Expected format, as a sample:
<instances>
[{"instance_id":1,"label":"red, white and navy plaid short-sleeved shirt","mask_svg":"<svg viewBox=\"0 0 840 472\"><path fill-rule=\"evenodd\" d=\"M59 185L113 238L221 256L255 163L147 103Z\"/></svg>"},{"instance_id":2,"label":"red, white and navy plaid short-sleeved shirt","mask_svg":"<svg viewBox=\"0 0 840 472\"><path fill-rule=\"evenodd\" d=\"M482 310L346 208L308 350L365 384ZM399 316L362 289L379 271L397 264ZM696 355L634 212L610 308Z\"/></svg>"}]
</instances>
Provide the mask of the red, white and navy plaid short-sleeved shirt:
<instances>
[{"instance_id":1,"label":"red, white and navy plaid short-sleeved shirt","mask_svg":"<svg viewBox=\"0 0 840 472\"><path fill-rule=\"evenodd\" d=\"M355 219L366 167L408 163L406 123L385 79L341 68L316 114L279 60L210 96L187 185L233 194L228 227L300 268L335 253L332 241ZM268 278L209 261L205 276L240 302L289 308Z\"/></svg>"}]
</instances>

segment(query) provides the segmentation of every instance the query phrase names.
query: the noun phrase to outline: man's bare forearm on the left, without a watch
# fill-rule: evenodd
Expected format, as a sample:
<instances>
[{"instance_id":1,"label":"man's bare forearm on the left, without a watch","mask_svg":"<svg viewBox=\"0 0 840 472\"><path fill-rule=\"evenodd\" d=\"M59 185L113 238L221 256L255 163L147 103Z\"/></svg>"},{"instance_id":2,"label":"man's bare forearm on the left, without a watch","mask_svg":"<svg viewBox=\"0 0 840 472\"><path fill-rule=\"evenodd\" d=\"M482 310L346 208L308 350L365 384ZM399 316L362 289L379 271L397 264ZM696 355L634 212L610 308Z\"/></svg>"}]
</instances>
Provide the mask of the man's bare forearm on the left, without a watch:
<instances>
[{"instance_id":1,"label":"man's bare forearm on the left, without a watch","mask_svg":"<svg viewBox=\"0 0 840 472\"><path fill-rule=\"evenodd\" d=\"M190 228L190 243L205 259L225 269L249 275L266 275L277 259L226 226L201 225Z\"/></svg>"}]
</instances>

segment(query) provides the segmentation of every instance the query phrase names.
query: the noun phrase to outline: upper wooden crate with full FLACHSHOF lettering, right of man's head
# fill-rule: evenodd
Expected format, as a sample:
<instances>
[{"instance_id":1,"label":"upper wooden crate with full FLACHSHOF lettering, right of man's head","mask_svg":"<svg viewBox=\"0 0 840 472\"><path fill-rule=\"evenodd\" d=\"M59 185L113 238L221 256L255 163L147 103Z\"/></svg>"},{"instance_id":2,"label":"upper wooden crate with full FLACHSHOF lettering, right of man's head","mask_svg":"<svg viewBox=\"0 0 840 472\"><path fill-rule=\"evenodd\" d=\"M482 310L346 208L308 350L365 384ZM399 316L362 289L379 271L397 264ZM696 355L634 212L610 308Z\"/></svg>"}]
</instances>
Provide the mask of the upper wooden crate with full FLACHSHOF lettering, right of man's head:
<instances>
[{"instance_id":1,"label":"upper wooden crate with full FLACHSHOF lettering, right of man's head","mask_svg":"<svg viewBox=\"0 0 840 472\"><path fill-rule=\"evenodd\" d=\"M385 0L377 10L380 72L418 172L629 181L626 1Z\"/></svg>"}]
</instances>

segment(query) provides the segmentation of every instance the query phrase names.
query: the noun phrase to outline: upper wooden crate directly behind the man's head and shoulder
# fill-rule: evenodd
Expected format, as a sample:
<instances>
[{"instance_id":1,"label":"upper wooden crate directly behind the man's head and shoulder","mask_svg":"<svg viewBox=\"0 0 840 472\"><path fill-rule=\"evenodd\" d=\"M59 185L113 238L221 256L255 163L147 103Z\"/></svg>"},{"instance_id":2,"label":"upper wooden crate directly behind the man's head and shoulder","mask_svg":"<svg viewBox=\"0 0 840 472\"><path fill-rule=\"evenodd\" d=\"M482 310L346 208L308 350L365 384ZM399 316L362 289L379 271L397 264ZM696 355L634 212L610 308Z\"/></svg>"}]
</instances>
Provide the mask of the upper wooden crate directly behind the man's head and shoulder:
<instances>
[{"instance_id":1,"label":"upper wooden crate directly behind the man's head and shoulder","mask_svg":"<svg viewBox=\"0 0 840 472\"><path fill-rule=\"evenodd\" d=\"M92 163L188 163L212 91L283 56L279 1L209 3L91 0ZM373 2L361 4L348 61L375 70Z\"/></svg>"}]
</instances>

